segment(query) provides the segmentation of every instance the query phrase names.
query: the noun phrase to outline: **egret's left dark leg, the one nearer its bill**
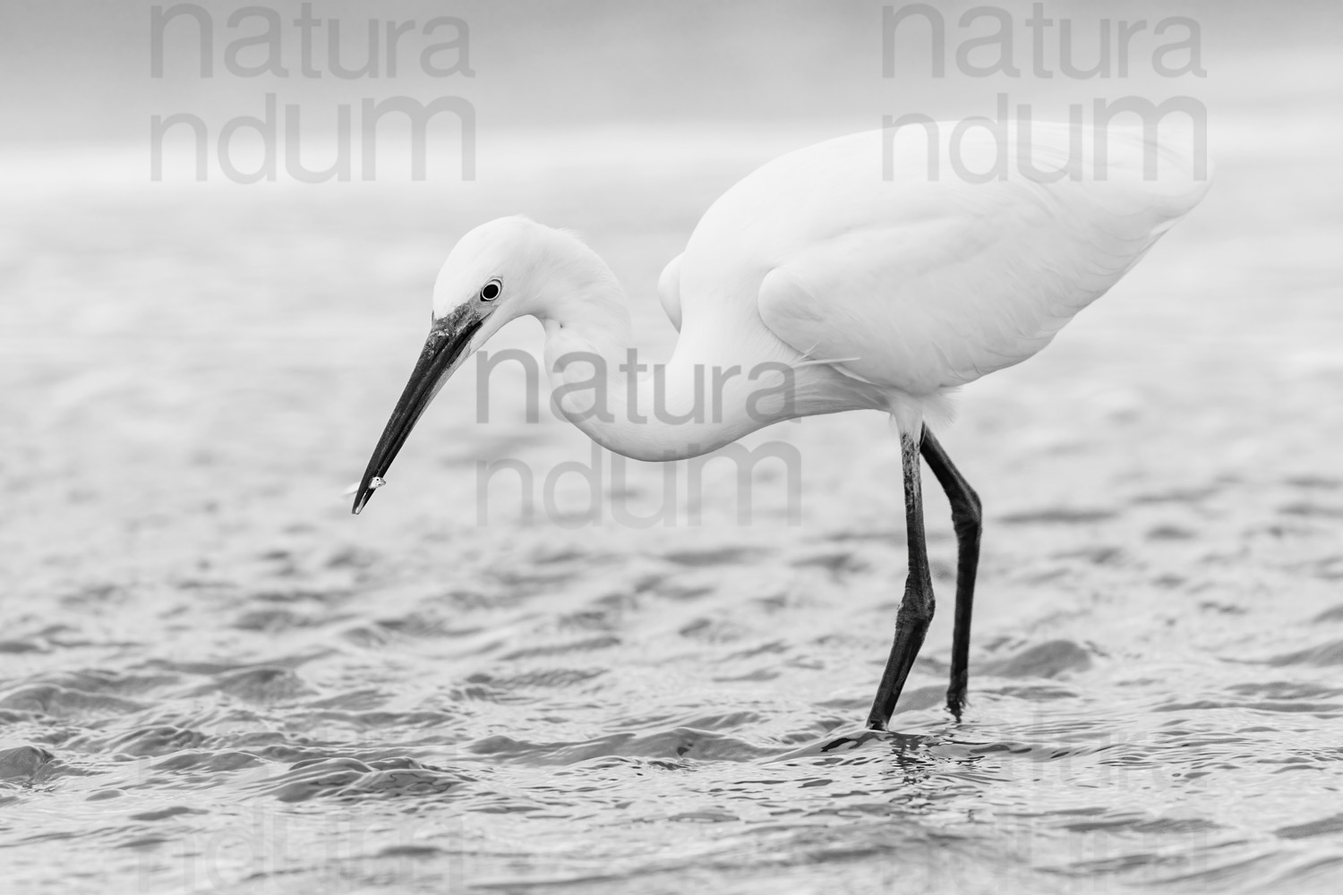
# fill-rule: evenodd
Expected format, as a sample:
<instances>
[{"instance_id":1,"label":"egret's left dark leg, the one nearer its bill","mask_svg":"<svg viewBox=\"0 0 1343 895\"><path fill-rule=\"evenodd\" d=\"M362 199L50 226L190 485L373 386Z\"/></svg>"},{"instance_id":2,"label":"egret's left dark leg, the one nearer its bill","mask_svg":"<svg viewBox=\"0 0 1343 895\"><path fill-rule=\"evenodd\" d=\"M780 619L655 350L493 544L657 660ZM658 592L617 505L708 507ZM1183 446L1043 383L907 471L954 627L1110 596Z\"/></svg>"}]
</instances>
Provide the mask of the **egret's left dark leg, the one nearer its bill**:
<instances>
[{"instance_id":1,"label":"egret's left dark leg, the one nearer its bill","mask_svg":"<svg viewBox=\"0 0 1343 895\"><path fill-rule=\"evenodd\" d=\"M932 621L933 597L932 576L928 573L928 545L924 542L923 492L919 484L919 444L920 435L900 436L900 466L905 479L905 530L909 534L909 577L905 578L905 596L896 613L896 641L886 659L886 670L881 672L877 699L868 714L868 727L885 730L896 700L915 664L919 647L928 633Z\"/></svg>"}]
</instances>

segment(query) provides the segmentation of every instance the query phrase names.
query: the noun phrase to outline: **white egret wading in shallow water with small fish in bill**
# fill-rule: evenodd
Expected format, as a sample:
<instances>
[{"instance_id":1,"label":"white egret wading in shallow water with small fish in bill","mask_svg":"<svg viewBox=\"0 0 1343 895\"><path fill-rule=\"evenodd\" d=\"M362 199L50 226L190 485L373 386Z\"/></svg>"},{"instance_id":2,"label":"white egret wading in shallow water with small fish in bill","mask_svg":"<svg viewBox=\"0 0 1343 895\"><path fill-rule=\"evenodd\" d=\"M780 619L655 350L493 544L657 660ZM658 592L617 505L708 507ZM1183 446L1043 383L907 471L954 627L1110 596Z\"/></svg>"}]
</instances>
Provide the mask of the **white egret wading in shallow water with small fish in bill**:
<instances>
[{"instance_id":1,"label":"white egret wading in shallow water with small fish in bill","mask_svg":"<svg viewBox=\"0 0 1343 895\"><path fill-rule=\"evenodd\" d=\"M1194 134L1029 121L929 122L788 153L713 203L662 272L680 338L651 372L629 349L624 293L594 251L526 217L482 224L438 275L428 339L355 513L447 378L524 314L545 329L560 412L629 458L697 456L799 416L889 413L909 572L868 726L889 722L933 615L920 455L958 541L947 706L960 718L980 502L933 429L958 386L1035 354L1113 286L1198 204L1207 169Z\"/></svg>"}]
</instances>

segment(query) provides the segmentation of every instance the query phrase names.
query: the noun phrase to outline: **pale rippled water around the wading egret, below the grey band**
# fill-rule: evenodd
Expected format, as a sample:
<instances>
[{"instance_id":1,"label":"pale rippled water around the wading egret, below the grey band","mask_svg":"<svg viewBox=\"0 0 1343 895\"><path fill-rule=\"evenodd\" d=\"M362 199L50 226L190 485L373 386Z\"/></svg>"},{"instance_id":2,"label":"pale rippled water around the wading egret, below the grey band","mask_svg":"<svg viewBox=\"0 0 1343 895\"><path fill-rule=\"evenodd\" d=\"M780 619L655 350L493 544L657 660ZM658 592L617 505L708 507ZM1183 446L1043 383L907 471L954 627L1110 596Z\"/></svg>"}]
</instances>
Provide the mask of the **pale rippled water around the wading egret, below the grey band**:
<instances>
[{"instance_id":1,"label":"pale rippled water around the wading egret, below the grey band","mask_svg":"<svg viewBox=\"0 0 1343 895\"><path fill-rule=\"evenodd\" d=\"M941 611L889 737L860 735L904 576L877 415L756 436L799 451L800 525L768 467L739 525L727 464L705 467L700 525L620 525L615 503L658 507L662 470L616 484L610 458L600 519L577 478L553 511L537 484L528 517L504 476L479 499L477 463L544 478L587 443L525 420L516 369L475 421L467 369L369 510L340 496L457 233L518 208L583 231L665 352L654 279L736 158L674 195L603 168L447 200L8 204L5 876L1336 891L1343 195L1315 145L1287 166L1223 150L1206 204L1119 288L966 389L944 444L986 505L971 707L940 708L955 551L931 495Z\"/></svg>"}]
</instances>

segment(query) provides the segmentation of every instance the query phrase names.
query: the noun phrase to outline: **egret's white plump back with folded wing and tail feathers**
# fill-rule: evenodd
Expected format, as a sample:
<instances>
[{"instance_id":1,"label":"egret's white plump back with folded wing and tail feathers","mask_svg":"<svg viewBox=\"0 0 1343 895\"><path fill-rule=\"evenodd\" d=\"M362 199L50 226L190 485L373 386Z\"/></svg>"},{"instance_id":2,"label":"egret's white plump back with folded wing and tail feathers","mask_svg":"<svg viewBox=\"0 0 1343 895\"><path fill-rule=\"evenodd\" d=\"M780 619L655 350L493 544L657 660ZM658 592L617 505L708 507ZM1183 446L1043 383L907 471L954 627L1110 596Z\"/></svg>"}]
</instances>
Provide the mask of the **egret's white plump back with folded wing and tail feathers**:
<instances>
[{"instance_id":1,"label":"egret's white plump back with folded wing and tail feathers","mask_svg":"<svg viewBox=\"0 0 1343 895\"><path fill-rule=\"evenodd\" d=\"M853 358L834 365L847 376L933 394L1042 349L1209 185L1202 149L1168 127L955 127L831 140L724 193L681 259L684 333L737 314Z\"/></svg>"}]
</instances>

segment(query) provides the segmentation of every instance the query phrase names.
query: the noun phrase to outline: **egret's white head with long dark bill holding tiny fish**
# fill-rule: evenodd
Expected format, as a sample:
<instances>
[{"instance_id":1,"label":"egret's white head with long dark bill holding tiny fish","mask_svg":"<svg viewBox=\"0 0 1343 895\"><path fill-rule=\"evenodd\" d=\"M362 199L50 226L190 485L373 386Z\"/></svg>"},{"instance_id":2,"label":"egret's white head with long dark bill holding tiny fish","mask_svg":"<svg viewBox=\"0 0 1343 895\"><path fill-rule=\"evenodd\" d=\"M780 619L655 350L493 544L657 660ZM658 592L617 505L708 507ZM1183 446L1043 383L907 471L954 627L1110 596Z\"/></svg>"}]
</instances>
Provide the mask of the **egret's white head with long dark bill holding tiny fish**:
<instances>
[{"instance_id":1,"label":"egret's white head with long dark bill holding tiny fish","mask_svg":"<svg viewBox=\"0 0 1343 895\"><path fill-rule=\"evenodd\" d=\"M505 323L547 318L586 280L610 279L606 264L572 235L526 217L501 217L466 233L434 282L428 338L355 495L364 509L424 408L458 368ZM618 286L616 286L618 288Z\"/></svg>"}]
</instances>

